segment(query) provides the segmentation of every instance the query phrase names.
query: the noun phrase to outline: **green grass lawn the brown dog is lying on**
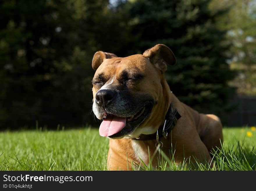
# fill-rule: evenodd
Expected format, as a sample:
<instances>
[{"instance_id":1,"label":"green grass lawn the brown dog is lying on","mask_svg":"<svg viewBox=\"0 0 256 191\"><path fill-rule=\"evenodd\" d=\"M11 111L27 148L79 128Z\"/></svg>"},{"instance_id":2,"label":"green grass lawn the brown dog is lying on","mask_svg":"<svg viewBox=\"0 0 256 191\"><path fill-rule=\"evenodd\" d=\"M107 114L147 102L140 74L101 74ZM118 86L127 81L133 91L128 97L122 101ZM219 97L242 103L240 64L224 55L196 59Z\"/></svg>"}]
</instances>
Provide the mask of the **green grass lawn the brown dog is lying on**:
<instances>
[{"instance_id":1,"label":"green grass lawn the brown dog is lying on","mask_svg":"<svg viewBox=\"0 0 256 191\"><path fill-rule=\"evenodd\" d=\"M189 161L176 166L167 158L167 162L159 163L159 169L256 170L256 131L247 127L224 128L223 135L223 147L214 153L213 168ZM106 170L108 142L91 128L1 132L0 170ZM140 169L152 167L142 165Z\"/></svg>"}]
</instances>

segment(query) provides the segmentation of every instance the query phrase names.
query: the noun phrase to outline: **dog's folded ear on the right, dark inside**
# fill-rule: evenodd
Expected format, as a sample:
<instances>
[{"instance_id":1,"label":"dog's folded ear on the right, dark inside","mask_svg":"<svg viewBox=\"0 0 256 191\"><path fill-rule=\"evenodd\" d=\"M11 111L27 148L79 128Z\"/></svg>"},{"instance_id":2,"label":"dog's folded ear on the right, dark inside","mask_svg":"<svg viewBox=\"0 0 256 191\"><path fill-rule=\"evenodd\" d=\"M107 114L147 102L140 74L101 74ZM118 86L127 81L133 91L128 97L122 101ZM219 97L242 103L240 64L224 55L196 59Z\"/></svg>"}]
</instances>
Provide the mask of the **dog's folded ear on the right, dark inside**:
<instances>
[{"instance_id":1,"label":"dog's folded ear on the right, dark inside","mask_svg":"<svg viewBox=\"0 0 256 191\"><path fill-rule=\"evenodd\" d=\"M161 72L167 70L167 64L172 66L176 64L173 52L163 44L157 44L151 49L147 49L143 56L149 58L150 62L160 69Z\"/></svg>"}]
</instances>

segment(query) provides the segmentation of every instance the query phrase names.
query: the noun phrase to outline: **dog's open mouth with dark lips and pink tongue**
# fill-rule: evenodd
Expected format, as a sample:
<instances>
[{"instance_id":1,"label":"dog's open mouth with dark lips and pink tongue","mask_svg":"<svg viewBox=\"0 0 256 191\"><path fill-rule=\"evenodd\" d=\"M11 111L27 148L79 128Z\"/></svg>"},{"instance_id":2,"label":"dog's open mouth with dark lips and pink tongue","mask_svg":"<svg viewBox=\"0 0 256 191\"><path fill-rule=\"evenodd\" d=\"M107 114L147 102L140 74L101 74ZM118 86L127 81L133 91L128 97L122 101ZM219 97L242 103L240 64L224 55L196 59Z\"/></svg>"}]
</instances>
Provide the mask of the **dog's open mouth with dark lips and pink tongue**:
<instances>
[{"instance_id":1,"label":"dog's open mouth with dark lips and pink tongue","mask_svg":"<svg viewBox=\"0 0 256 191\"><path fill-rule=\"evenodd\" d=\"M111 113L104 113L99 127L99 134L103 137L119 138L135 130L151 113L152 104L141 108L135 115L119 117Z\"/></svg>"}]
</instances>

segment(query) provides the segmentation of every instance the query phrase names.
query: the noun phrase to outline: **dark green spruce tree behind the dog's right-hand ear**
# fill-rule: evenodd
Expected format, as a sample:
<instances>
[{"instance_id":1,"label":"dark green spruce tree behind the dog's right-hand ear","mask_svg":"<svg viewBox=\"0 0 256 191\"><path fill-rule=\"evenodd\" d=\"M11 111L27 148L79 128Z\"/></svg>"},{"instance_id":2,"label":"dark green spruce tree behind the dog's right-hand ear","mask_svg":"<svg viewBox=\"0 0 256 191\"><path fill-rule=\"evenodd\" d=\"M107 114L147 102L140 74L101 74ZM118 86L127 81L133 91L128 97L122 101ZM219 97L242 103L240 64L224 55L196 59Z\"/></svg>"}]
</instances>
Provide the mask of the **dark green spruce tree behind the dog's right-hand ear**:
<instances>
[{"instance_id":1,"label":"dark green spruce tree behind the dog's right-hand ear","mask_svg":"<svg viewBox=\"0 0 256 191\"><path fill-rule=\"evenodd\" d=\"M216 18L207 0L137 0L127 5L134 46L138 53L155 44L166 44L177 57L177 65L168 67L166 79L173 93L189 106L224 118L232 106L228 103L234 89L227 82L234 78L226 63L229 44L225 31L216 26Z\"/></svg>"}]
</instances>

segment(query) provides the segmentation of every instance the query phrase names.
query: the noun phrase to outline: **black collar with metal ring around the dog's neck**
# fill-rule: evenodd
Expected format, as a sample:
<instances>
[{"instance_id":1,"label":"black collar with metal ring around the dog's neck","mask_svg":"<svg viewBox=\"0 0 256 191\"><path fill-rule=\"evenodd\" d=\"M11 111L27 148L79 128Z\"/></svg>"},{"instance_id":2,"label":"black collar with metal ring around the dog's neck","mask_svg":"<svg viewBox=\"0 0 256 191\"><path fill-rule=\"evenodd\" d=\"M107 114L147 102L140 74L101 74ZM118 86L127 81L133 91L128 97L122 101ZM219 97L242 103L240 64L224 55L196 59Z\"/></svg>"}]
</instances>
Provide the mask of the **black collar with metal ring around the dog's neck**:
<instances>
[{"instance_id":1,"label":"black collar with metal ring around the dog's neck","mask_svg":"<svg viewBox=\"0 0 256 191\"><path fill-rule=\"evenodd\" d=\"M154 139L160 139L160 137L167 138L168 133L173 130L174 126L177 124L178 119L181 117L179 115L179 112L177 109L173 111L173 103L170 104L170 107L166 113L164 124L161 125L157 132L150 134L150 135L144 135L141 134L138 138L133 138L134 140L139 141L149 141Z\"/></svg>"}]
</instances>

